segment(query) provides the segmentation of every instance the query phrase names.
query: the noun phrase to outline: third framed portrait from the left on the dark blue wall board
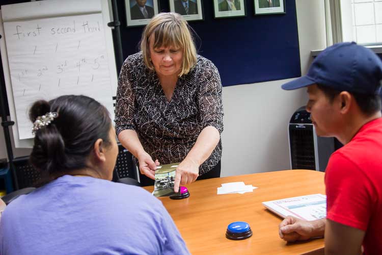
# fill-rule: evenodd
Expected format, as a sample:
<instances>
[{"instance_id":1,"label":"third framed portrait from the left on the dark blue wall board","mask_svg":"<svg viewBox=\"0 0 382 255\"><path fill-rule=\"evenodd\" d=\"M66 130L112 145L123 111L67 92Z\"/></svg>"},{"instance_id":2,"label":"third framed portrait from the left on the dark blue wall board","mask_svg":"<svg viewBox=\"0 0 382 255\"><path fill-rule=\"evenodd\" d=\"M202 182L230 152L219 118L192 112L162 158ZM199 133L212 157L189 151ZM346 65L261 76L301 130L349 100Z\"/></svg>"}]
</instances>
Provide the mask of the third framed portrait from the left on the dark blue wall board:
<instances>
[{"instance_id":1,"label":"third framed portrait from the left on the dark blue wall board","mask_svg":"<svg viewBox=\"0 0 382 255\"><path fill-rule=\"evenodd\" d=\"M244 0L213 0L214 18L232 18L244 16L247 16Z\"/></svg>"}]
</instances>

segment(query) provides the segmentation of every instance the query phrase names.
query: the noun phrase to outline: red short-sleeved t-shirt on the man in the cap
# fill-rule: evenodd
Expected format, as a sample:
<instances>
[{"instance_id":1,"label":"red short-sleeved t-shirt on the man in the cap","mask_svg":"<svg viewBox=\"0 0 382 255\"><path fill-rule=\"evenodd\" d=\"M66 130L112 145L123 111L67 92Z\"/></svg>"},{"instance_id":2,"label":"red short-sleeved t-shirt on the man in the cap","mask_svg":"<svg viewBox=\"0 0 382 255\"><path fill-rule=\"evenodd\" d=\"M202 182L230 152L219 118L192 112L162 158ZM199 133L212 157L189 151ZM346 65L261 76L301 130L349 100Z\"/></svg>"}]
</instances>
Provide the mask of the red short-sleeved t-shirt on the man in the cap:
<instances>
[{"instance_id":1,"label":"red short-sleeved t-shirt on the man in the cap","mask_svg":"<svg viewBox=\"0 0 382 255\"><path fill-rule=\"evenodd\" d=\"M365 231L365 254L382 254L382 118L333 153L325 186L326 218Z\"/></svg>"}]
</instances>

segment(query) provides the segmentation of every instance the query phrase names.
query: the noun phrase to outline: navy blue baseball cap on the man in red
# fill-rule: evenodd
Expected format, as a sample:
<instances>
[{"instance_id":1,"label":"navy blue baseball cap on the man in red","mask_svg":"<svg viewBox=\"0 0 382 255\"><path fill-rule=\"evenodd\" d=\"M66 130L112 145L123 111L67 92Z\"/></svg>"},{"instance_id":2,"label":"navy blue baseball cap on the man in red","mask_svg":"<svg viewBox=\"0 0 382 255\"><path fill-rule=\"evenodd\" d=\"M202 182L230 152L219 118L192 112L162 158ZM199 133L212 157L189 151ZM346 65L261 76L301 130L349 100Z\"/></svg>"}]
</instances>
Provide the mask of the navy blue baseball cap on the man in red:
<instances>
[{"instance_id":1,"label":"navy blue baseball cap on the man in red","mask_svg":"<svg viewBox=\"0 0 382 255\"><path fill-rule=\"evenodd\" d=\"M382 61L372 50L355 42L342 42L324 49L307 75L281 87L292 90L319 84L338 91L379 94L381 80Z\"/></svg>"}]
</instances>

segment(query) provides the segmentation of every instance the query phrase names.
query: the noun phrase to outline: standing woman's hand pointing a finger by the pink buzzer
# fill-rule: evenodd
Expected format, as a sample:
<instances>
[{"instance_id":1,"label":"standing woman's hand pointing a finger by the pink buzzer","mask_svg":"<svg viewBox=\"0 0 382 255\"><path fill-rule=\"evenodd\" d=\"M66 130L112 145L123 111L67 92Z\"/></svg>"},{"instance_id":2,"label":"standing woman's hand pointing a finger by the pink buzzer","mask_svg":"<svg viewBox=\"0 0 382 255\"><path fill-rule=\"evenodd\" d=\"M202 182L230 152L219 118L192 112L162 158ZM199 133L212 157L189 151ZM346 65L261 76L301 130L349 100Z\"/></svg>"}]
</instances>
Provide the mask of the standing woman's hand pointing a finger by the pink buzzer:
<instances>
[{"instance_id":1,"label":"standing woman's hand pointing a finger by the pink buzzer","mask_svg":"<svg viewBox=\"0 0 382 255\"><path fill-rule=\"evenodd\" d=\"M178 192L179 185L190 184L196 181L199 176L199 164L193 160L185 158L175 171L174 191Z\"/></svg>"}]
</instances>

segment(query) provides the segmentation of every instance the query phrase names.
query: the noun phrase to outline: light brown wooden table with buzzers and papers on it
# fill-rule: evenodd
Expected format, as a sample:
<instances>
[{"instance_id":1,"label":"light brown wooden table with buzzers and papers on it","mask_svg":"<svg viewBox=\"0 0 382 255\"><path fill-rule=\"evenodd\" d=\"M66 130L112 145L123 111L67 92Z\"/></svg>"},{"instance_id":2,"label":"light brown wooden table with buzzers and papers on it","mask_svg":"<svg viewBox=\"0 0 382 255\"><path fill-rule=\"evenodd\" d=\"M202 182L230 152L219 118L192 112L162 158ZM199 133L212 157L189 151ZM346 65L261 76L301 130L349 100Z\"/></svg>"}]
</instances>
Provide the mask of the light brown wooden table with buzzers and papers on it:
<instances>
[{"instance_id":1,"label":"light brown wooden table with buzzers and papers on it","mask_svg":"<svg viewBox=\"0 0 382 255\"><path fill-rule=\"evenodd\" d=\"M221 177L187 186L190 196L182 200L160 197L192 254L300 254L322 252L323 239L287 243L279 237L282 218L261 202L315 193L325 194L324 173L285 170ZM222 183L240 182L258 187L244 194L217 195ZM145 187L152 191L153 186ZM253 236L233 241L225 237L229 223L248 222Z\"/></svg>"}]
</instances>

